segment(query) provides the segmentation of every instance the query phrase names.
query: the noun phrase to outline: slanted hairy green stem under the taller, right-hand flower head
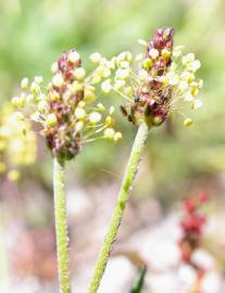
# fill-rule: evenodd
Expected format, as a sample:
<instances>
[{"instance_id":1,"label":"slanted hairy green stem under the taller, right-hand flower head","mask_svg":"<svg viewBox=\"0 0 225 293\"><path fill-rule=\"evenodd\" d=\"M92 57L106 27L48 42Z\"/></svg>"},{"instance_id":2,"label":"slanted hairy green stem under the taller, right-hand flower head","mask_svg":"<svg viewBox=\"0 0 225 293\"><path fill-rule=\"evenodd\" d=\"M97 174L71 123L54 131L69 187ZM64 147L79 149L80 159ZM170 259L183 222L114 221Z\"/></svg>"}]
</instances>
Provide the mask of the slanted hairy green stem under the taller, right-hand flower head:
<instances>
[{"instance_id":1,"label":"slanted hairy green stem under the taller, right-hand flower head","mask_svg":"<svg viewBox=\"0 0 225 293\"><path fill-rule=\"evenodd\" d=\"M139 126L136 138L135 138L135 142L132 149L132 153L130 153L127 167L125 170L124 179L122 182L121 191L117 196L117 202L113 211L113 215L112 215L111 222L108 229L108 233L104 239L104 243L99 253L99 257L97 260L92 280L90 282L89 293L96 293L100 285L101 278L104 273L104 269L105 269L110 253L112 251L113 243L115 241L118 227L123 217L123 213L124 213L124 209L125 209L128 196L129 196L132 183L134 182L135 176L138 170L140 155L146 144L148 132L149 132L148 126L146 125L146 123L142 123Z\"/></svg>"}]
</instances>

